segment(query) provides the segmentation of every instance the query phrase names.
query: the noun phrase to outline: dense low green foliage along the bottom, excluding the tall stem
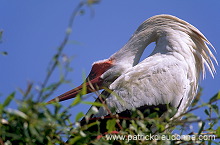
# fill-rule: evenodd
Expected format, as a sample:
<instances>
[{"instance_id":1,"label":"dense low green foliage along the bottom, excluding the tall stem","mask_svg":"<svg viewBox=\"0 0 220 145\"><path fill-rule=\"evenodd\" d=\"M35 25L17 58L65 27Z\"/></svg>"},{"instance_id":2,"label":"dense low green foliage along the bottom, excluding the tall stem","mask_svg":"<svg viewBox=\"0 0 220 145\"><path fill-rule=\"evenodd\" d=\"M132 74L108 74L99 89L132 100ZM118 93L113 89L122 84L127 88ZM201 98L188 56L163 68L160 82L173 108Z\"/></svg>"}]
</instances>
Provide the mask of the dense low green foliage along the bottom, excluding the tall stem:
<instances>
[{"instance_id":1,"label":"dense low green foliage along the bottom, excluding the tall stem","mask_svg":"<svg viewBox=\"0 0 220 145\"><path fill-rule=\"evenodd\" d=\"M219 95L220 93L217 93L215 96ZM0 104L0 143L2 144L112 144L116 142L118 144L153 144L155 142L157 144L189 144L204 143L205 141L214 143L220 137L220 128L217 127L219 126L220 115L218 106L213 104L219 102L218 97L215 97L214 102L213 98L210 99L213 102L212 104L205 103L194 106L183 114L182 120L177 118L169 120L169 117L164 120L153 114L151 117L144 117L141 112L135 110L136 115L131 118L112 116L112 119L106 123L108 131L104 134L101 134L100 131L90 130L96 125L99 126L102 120L80 126L78 121L86 116L82 112L76 115L76 122L70 121L71 114L68 110L76 104L64 107L57 102L48 105L47 103L26 99L22 102L18 101L17 109L7 108L14 97L15 93L12 93ZM204 112L207 112L205 119L199 119L191 112L194 109L205 107L208 107L208 109L204 109ZM117 123L121 125L121 130L116 131ZM155 132L149 130L149 123L155 126ZM205 140L198 140L198 138L196 140L190 138L169 139L175 135L170 130L179 129L182 131L179 135L184 135L192 123L197 123L199 127L194 132L189 133L189 136L214 135L214 137ZM158 135L160 137L165 136L168 140L160 140ZM147 136L157 137L145 140Z\"/></svg>"}]
</instances>

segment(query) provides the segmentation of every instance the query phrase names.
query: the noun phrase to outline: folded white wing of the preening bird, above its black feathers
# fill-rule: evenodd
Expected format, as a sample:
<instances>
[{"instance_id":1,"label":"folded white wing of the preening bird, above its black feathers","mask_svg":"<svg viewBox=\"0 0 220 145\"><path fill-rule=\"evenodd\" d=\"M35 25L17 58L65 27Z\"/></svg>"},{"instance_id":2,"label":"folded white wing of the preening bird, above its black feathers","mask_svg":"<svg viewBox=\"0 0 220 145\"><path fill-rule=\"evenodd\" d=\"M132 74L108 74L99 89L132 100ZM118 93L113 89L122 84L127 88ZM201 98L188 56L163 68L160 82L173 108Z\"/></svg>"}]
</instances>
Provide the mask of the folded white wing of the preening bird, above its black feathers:
<instances>
[{"instance_id":1,"label":"folded white wing of the preening bird, above its black feathers","mask_svg":"<svg viewBox=\"0 0 220 145\"><path fill-rule=\"evenodd\" d=\"M113 92L106 98L106 104L116 113L146 105L188 104L191 82L187 69L184 62L173 56L148 57L111 84ZM100 107L94 117L106 115L106 109Z\"/></svg>"}]
</instances>

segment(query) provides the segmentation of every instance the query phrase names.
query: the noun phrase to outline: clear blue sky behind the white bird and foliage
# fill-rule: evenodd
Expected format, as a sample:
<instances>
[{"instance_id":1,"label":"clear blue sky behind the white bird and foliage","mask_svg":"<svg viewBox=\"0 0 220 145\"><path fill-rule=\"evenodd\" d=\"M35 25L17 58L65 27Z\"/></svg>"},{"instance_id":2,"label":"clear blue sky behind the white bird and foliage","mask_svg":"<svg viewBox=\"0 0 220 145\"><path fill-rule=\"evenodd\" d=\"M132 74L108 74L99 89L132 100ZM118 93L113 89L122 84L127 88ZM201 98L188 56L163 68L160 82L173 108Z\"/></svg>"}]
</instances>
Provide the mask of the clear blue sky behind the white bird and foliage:
<instances>
[{"instance_id":1,"label":"clear blue sky behind the white bird and foliage","mask_svg":"<svg viewBox=\"0 0 220 145\"><path fill-rule=\"evenodd\" d=\"M0 55L0 102L16 88L25 89L28 81L33 81L35 87L43 81L49 60L63 40L69 17L78 2L0 1L0 29L4 30L0 51L8 52L7 56ZM157 14L175 15L196 26L216 48L215 56L220 62L219 5L219 0L104 0L91 9L84 8L85 14L77 17L70 37L75 43L68 43L64 51L74 57L71 63L74 70L68 75L73 83L60 87L53 97L81 84L82 74L89 73L94 61L108 58L119 50L144 20ZM148 51L145 50L143 57ZM209 100L220 90L220 68L216 66L216 70L214 79L207 73L206 79L200 83L204 88L201 102ZM51 81L58 78L59 71ZM94 100L92 96L95 95L91 95L89 101ZM16 93L16 98L21 95ZM10 105L15 106L15 102ZM88 105L79 105L71 111L74 116L88 108Z\"/></svg>"}]
</instances>

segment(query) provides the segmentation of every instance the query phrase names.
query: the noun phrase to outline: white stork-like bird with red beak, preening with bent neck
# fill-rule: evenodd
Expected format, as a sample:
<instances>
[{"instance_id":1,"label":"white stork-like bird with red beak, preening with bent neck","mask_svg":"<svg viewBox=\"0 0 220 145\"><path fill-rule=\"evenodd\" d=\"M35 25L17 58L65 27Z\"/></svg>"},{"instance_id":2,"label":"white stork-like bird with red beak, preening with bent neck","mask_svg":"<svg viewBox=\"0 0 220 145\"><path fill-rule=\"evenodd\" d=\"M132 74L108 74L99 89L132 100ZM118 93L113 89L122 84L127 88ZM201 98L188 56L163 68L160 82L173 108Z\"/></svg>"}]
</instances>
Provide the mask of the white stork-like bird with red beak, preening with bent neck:
<instances>
[{"instance_id":1,"label":"white stork-like bird with red beak, preening with bent neck","mask_svg":"<svg viewBox=\"0 0 220 145\"><path fill-rule=\"evenodd\" d=\"M152 42L156 43L153 52L139 62ZM163 107L169 104L177 109L175 116L179 116L196 95L205 67L212 76L215 73L213 60L216 64L217 60L207 44L214 49L206 37L186 21L171 15L153 16L138 27L119 51L93 64L85 82L87 93L103 88L112 90L102 92L109 110L114 110L112 114L126 116L132 108L144 111L159 107L166 111ZM51 101L74 98L81 89L82 85ZM100 107L92 117L107 115L108 109Z\"/></svg>"}]
</instances>

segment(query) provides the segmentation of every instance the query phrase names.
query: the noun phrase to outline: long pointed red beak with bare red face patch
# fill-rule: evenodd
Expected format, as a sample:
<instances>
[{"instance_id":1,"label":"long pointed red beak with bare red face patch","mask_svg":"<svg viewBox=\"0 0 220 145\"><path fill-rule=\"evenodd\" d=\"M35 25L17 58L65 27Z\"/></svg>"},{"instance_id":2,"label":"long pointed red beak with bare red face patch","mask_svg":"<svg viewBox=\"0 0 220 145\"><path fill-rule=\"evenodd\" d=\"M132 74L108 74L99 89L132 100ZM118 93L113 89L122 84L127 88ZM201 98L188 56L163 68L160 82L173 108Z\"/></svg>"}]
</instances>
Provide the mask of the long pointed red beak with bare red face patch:
<instances>
[{"instance_id":1,"label":"long pointed red beak with bare red face patch","mask_svg":"<svg viewBox=\"0 0 220 145\"><path fill-rule=\"evenodd\" d=\"M111 66L112 66L112 60L105 60L103 62L93 64L92 70L85 80L85 84L82 84L82 85L76 87L75 89L72 89L72 90L62 94L62 95L50 100L47 103L52 103L56 100L61 102L64 100L74 98L83 89L84 85L86 87L87 94L103 89L103 86L102 86L103 79L101 79L100 77Z\"/></svg>"}]
</instances>

